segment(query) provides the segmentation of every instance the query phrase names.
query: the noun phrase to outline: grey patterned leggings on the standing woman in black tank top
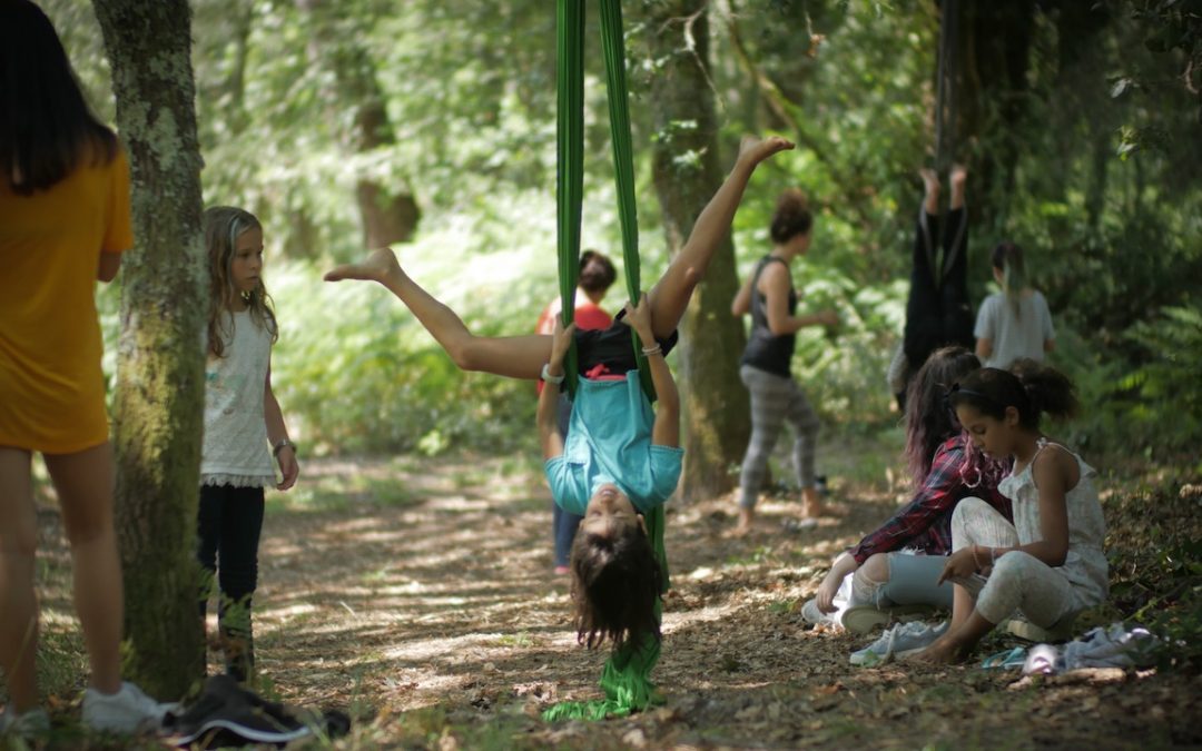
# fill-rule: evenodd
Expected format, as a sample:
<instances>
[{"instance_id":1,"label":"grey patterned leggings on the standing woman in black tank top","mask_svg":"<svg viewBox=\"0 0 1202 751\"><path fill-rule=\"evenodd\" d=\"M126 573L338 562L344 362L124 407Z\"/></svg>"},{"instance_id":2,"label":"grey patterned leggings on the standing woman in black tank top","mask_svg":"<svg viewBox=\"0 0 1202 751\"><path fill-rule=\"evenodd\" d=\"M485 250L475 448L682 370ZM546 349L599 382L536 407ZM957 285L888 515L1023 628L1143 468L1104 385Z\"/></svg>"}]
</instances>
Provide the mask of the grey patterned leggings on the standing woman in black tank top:
<instances>
[{"instance_id":1,"label":"grey patterned leggings on the standing woman in black tank top","mask_svg":"<svg viewBox=\"0 0 1202 751\"><path fill-rule=\"evenodd\" d=\"M797 381L751 365L739 368L743 385L751 392L751 441L739 475L739 506L754 508L763 487L768 457L785 422L793 427L793 469L799 488L814 487L814 449L819 417Z\"/></svg>"}]
</instances>

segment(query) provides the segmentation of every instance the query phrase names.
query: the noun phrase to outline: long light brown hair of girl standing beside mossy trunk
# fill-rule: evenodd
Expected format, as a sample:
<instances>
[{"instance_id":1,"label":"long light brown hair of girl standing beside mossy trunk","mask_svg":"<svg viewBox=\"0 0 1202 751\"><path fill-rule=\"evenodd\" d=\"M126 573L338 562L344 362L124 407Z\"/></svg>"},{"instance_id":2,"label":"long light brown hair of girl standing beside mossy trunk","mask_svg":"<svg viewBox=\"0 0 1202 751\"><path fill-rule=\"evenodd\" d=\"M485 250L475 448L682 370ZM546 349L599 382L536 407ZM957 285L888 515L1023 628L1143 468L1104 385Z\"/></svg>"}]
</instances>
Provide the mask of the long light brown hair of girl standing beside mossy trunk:
<instances>
[{"instance_id":1,"label":"long light brown hair of girl standing beside mossy trunk","mask_svg":"<svg viewBox=\"0 0 1202 751\"><path fill-rule=\"evenodd\" d=\"M263 280L248 293L233 286L233 257L238 237L248 230L262 228L254 214L232 205L214 205L204 210L204 248L209 254L209 352L225 357L225 345L233 334L234 298L242 297L250 317L272 334L272 344L279 338L272 298ZM231 329L226 330L226 326Z\"/></svg>"}]
</instances>

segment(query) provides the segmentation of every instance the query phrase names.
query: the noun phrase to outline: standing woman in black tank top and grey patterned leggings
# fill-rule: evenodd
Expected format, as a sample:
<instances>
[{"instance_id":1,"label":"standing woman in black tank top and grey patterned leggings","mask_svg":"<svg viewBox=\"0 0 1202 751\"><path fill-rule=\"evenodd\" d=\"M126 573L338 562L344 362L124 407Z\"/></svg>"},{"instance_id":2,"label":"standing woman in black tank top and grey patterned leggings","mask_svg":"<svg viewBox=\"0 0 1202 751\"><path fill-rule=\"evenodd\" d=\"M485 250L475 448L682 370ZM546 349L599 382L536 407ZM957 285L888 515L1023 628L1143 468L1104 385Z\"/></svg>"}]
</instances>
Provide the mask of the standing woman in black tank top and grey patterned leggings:
<instances>
[{"instance_id":1,"label":"standing woman in black tank top and grey patterned leggings","mask_svg":"<svg viewBox=\"0 0 1202 751\"><path fill-rule=\"evenodd\" d=\"M751 335L739 360L739 376L751 393L751 440L739 476L739 535L751 529L768 457L785 422L793 427L793 464L805 518L822 513L814 475L819 419L790 370L797 332L807 326L834 326L839 320L833 310L796 315L790 263L809 250L813 223L802 192L785 191L772 220L772 252L756 264L731 304L736 316L751 314Z\"/></svg>"}]
</instances>

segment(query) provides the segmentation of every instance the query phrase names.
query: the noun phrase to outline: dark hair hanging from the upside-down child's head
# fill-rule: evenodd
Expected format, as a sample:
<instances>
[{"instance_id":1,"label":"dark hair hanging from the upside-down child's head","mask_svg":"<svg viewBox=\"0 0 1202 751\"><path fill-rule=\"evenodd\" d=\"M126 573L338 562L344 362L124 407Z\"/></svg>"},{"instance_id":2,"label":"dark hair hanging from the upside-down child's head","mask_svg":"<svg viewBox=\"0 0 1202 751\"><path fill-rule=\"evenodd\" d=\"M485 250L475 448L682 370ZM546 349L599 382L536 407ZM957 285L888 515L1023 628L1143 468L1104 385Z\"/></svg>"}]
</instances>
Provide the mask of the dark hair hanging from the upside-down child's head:
<instances>
[{"instance_id":1,"label":"dark hair hanging from the upside-down child's head","mask_svg":"<svg viewBox=\"0 0 1202 751\"><path fill-rule=\"evenodd\" d=\"M619 649L647 633L660 638L655 601L664 574L641 526L612 537L578 532L571 567L578 642L593 649L609 639Z\"/></svg>"}]
</instances>

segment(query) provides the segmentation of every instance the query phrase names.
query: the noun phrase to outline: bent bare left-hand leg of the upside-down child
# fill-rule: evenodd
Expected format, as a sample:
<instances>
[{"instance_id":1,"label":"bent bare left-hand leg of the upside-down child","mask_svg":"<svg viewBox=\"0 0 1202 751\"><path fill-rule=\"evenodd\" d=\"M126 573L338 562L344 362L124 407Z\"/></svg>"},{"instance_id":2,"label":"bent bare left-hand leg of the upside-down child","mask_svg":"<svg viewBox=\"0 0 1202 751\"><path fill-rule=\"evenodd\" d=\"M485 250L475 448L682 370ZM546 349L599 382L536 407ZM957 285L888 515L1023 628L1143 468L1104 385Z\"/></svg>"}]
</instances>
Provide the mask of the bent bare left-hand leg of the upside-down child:
<instances>
[{"instance_id":1,"label":"bent bare left-hand leg of the upside-down child","mask_svg":"<svg viewBox=\"0 0 1202 751\"><path fill-rule=\"evenodd\" d=\"M426 330L442 345L463 370L481 370L513 379L537 379L551 358L551 336L476 336L450 308L436 300L405 274L392 250L373 251L361 263L331 270L326 281L357 279L377 281L397 296Z\"/></svg>"}]
</instances>

